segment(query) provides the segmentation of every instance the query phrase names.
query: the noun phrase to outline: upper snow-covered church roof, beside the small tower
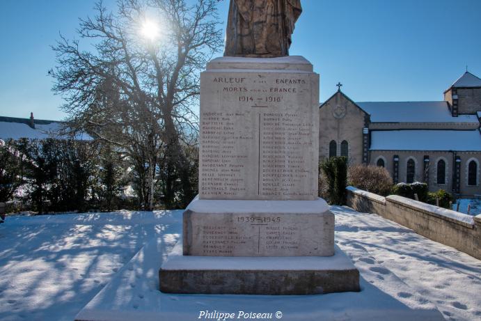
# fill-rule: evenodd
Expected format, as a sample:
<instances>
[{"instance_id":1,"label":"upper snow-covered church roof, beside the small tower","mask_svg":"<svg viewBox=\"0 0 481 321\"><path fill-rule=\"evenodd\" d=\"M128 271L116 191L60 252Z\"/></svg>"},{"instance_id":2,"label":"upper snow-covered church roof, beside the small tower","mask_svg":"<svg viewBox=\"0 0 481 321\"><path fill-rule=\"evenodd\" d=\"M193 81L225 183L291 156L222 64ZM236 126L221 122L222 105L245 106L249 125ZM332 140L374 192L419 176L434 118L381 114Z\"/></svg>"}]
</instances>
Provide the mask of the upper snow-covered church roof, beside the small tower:
<instances>
[{"instance_id":1,"label":"upper snow-covered church roof, beside the small tower","mask_svg":"<svg viewBox=\"0 0 481 321\"><path fill-rule=\"evenodd\" d=\"M475 115L452 117L448 102L356 102L372 123L478 123Z\"/></svg>"}]
</instances>

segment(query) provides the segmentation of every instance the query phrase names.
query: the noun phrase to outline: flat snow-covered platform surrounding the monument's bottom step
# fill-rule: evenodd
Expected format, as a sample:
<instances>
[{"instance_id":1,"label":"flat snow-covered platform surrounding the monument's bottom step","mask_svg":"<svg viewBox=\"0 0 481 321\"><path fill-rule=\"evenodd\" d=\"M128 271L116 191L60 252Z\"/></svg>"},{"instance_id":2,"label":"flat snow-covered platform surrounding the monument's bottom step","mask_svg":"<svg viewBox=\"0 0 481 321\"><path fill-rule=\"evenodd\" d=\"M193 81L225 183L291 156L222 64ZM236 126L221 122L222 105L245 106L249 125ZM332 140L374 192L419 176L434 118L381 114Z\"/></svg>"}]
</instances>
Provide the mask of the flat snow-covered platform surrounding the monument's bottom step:
<instances>
[{"instance_id":1,"label":"flat snow-covered platform surrounding the monument's bottom step","mask_svg":"<svg viewBox=\"0 0 481 321\"><path fill-rule=\"evenodd\" d=\"M182 295L159 292L157 271L165 267L171 256L165 253L164 237L154 237L125 265L77 315L77 320L91 321L192 321L200 311L234 313L281 312L285 321L356 320L356 321L442 321L436 306L416 293L395 274L371 260L367 251L356 248L356 267L361 272L361 292L331 293L329 295ZM182 247L180 242L176 248ZM338 251L338 249L336 249ZM339 250L340 251L340 250ZM177 252L177 251L176 251ZM178 253L178 252L177 252ZM340 253L339 253L340 254ZM340 254L341 255L341 254ZM345 255L345 254L344 254ZM344 256L342 255L342 256ZM191 260L183 258L182 260ZM196 260L196 257L194 257ZM245 258L212 258L217 261L236 260L245 265ZM250 259L250 258L248 258ZM301 265L302 258L268 258L282 265L290 259L289 269ZM304 258L306 259L306 258ZM313 260L317 260L314 258ZM324 260L326 258L319 258ZM349 258L347 258L349 260ZM308 259L309 260L309 259ZM243 262L244 261L244 262ZM198 267L196 265L189 265ZM225 266L224 266L225 267ZM319 267L319 266L317 266ZM300 266L296 267L297 269ZM308 268L308 265L306 265ZM379 281L382 272L383 281ZM398 293L409 293L409 297ZM209 318L210 319L210 318ZM241 318L242 319L242 318ZM271 318L274 319L274 318ZM211 319L210 319L211 320ZM217 319L215 319L217 320ZM221 318L220 320L232 320ZM244 320L244 319L243 319ZM262 319L269 320L269 319ZM275 320L275 319L274 319Z\"/></svg>"}]
</instances>

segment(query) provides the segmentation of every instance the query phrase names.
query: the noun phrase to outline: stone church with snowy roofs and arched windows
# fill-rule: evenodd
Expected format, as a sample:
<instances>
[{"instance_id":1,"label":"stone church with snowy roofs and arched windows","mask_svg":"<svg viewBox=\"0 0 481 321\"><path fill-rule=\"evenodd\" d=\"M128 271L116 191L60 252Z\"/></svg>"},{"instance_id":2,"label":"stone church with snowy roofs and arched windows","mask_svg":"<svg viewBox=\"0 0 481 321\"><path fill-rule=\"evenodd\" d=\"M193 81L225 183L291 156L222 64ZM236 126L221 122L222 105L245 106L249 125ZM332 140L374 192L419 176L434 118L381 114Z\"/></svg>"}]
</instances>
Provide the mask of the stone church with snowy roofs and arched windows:
<instances>
[{"instance_id":1,"label":"stone church with snowy roofs and arched windows","mask_svg":"<svg viewBox=\"0 0 481 321\"><path fill-rule=\"evenodd\" d=\"M481 79L466 72L436 102L354 102L338 90L320 106L320 159L384 166L394 182L481 194Z\"/></svg>"}]
</instances>

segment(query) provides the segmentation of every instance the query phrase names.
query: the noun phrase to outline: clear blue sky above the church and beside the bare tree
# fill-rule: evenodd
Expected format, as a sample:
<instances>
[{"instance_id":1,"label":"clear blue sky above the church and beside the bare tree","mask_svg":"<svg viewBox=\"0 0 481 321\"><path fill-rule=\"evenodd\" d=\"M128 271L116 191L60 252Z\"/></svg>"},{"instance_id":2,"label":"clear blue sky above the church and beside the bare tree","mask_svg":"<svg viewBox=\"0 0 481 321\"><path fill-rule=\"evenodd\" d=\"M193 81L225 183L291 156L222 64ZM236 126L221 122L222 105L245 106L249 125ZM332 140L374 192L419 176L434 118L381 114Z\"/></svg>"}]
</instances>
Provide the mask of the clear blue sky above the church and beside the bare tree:
<instances>
[{"instance_id":1,"label":"clear blue sky above the church and beside the bare tree","mask_svg":"<svg viewBox=\"0 0 481 321\"><path fill-rule=\"evenodd\" d=\"M93 0L0 2L0 116L62 119L50 90L59 33L72 38ZM227 19L229 0L219 2ZM109 8L115 1L107 0ZM292 55L321 77L321 101L340 81L355 101L442 100L468 70L481 77L479 0L302 0ZM219 53L221 55L221 53Z\"/></svg>"}]
</instances>

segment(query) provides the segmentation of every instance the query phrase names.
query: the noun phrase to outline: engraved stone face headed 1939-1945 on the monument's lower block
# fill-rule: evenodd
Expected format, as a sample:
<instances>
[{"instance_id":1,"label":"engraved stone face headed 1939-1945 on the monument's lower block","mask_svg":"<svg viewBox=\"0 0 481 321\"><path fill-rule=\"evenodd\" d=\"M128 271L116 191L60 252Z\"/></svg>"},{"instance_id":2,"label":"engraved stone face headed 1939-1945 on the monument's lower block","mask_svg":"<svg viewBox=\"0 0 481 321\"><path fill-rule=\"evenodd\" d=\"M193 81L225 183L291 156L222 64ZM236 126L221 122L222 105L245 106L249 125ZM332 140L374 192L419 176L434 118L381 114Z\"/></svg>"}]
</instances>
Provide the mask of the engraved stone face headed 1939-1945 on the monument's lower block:
<instances>
[{"instance_id":1,"label":"engraved stone face headed 1939-1945 on the monument's lower block","mask_svg":"<svg viewBox=\"0 0 481 321\"><path fill-rule=\"evenodd\" d=\"M202 213L191 224L189 254L199 256L320 255L333 236L329 215Z\"/></svg>"}]
</instances>

